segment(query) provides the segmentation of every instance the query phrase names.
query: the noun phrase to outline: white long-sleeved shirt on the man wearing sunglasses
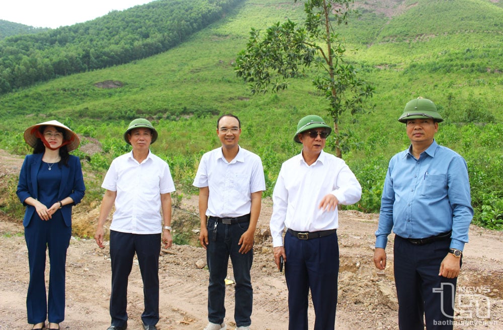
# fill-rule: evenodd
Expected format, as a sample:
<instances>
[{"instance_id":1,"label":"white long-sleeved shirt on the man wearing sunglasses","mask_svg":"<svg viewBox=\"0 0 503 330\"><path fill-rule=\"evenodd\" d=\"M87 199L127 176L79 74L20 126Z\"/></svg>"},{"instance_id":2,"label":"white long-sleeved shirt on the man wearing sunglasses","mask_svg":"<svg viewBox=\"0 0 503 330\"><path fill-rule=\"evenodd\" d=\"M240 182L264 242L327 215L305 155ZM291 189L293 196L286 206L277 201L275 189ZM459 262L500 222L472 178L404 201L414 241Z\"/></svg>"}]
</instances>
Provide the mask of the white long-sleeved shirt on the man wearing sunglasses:
<instances>
[{"instance_id":1,"label":"white long-sleeved shirt on the man wearing sunglasses","mask_svg":"<svg viewBox=\"0 0 503 330\"><path fill-rule=\"evenodd\" d=\"M270 223L273 246L283 246L285 226L299 232L339 228L337 208L333 211L318 208L329 193L343 205L354 204L362 196L362 187L344 160L321 151L310 166L302 154L284 162L273 192Z\"/></svg>"}]
</instances>

